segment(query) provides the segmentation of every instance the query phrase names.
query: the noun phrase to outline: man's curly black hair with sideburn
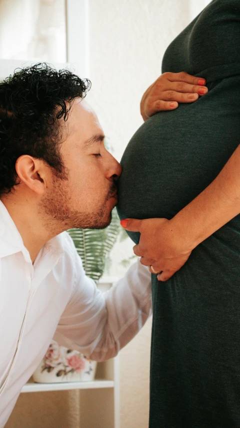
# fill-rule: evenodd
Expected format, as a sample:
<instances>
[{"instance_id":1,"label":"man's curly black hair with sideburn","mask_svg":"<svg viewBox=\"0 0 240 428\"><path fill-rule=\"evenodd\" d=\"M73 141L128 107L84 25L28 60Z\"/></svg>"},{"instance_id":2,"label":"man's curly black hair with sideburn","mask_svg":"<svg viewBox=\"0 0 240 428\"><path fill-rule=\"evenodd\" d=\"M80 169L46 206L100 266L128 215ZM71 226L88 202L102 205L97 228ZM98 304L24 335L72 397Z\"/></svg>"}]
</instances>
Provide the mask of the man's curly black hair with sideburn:
<instances>
[{"instance_id":1,"label":"man's curly black hair with sideburn","mask_svg":"<svg viewBox=\"0 0 240 428\"><path fill-rule=\"evenodd\" d=\"M74 98L84 98L90 85L46 63L17 69L0 83L0 195L19 184L15 162L21 155L43 160L64 178L58 119L67 120Z\"/></svg>"}]
</instances>

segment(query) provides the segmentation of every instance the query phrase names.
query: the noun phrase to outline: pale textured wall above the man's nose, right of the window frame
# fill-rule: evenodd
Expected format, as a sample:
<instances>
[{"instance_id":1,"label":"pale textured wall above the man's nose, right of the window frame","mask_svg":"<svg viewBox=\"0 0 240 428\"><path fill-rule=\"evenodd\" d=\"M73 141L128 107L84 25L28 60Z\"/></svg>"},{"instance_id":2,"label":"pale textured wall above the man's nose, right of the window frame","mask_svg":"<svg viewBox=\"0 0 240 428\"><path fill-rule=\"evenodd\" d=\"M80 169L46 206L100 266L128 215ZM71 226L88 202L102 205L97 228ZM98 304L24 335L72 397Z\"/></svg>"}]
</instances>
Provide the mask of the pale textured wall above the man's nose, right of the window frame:
<instances>
[{"instance_id":1,"label":"pale textured wall above the man's nose, right of the window frame","mask_svg":"<svg viewBox=\"0 0 240 428\"><path fill-rule=\"evenodd\" d=\"M169 42L188 23L188 0L89 0L87 95L119 160L142 123L139 102L161 74Z\"/></svg>"}]
</instances>

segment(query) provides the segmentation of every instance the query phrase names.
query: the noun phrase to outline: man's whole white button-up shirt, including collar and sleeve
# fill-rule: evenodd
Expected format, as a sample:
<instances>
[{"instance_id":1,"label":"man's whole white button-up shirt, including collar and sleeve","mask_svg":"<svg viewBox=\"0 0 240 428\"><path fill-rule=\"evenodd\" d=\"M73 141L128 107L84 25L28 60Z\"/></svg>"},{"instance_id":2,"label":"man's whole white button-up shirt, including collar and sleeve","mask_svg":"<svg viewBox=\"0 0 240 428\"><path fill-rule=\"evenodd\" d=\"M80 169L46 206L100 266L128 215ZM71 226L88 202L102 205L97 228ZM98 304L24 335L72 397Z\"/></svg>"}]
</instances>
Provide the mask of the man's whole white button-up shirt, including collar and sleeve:
<instances>
[{"instance_id":1,"label":"man's whole white button-up shirt, including collar and sleeve","mask_svg":"<svg viewBox=\"0 0 240 428\"><path fill-rule=\"evenodd\" d=\"M115 356L150 313L150 272L139 261L102 294L63 232L32 265L0 201L0 427L52 337L100 361Z\"/></svg>"}]
</instances>

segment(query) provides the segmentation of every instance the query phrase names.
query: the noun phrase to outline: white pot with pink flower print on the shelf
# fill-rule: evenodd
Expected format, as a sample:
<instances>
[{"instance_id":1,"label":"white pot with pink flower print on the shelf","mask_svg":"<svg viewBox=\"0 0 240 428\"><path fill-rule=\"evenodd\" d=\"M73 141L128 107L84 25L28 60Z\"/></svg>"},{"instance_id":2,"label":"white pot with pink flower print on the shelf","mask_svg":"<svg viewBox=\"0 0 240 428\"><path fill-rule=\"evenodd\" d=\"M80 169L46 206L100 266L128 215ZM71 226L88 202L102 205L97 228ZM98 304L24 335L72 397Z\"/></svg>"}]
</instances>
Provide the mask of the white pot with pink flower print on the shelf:
<instances>
[{"instance_id":1,"label":"white pot with pink flower print on the shelf","mask_svg":"<svg viewBox=\"0 0 240 428\"><path fill-rule=\"evenodd\" d=\"M95 371L96 361L52 340L32 378L39 383L85 382L94 379Z\"/></svg>"}]
</instances>

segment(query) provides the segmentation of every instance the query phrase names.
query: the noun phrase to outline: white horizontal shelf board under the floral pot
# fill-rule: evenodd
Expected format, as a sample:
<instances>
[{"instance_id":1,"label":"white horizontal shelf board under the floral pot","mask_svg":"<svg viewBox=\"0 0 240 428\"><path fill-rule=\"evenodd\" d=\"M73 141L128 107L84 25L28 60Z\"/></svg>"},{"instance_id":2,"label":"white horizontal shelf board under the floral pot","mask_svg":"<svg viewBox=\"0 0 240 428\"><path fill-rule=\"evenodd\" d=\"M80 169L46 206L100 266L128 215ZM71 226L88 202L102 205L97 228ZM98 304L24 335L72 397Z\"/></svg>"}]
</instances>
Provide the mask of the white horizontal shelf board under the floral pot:
<instances>
[{"instance_id":1,"label":"white horizontal shelf board under the floral pot","mask_svg":"<svg viewBox=\"0 0 240 428\"><path fill-rule=\"evenodd\" d=\"M56 383L35 383L30 378L23 386L21 392L59 391L66 389L95 389L113 388L113 380L93 380L89 382L56 382Z\"/></svg>"}]
</instances>

